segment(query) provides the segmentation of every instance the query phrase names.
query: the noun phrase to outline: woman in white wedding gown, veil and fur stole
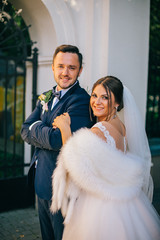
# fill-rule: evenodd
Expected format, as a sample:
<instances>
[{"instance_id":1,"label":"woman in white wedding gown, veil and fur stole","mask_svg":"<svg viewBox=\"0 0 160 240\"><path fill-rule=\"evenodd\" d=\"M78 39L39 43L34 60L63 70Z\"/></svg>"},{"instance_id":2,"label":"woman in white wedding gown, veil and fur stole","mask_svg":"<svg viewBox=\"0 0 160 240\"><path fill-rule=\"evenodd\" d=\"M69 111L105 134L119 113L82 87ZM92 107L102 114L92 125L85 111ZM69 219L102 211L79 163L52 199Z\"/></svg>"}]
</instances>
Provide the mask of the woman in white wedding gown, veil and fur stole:
<instances>
[{"instance_id":1,"label":"woman in white wedding gown, veil and fur stole","mask_svg":"<svg viewBox=\"0 0 160 240\"><path fill-rule=\"evenodd\" d=\"M151 156L133 96L107 76L94 84L90 107L97 117L91 129L72 135L68 113L53 122L64 146L51 211L61 209L65 218L63 240L159 240Z\"/></svg>"}]
</instances>

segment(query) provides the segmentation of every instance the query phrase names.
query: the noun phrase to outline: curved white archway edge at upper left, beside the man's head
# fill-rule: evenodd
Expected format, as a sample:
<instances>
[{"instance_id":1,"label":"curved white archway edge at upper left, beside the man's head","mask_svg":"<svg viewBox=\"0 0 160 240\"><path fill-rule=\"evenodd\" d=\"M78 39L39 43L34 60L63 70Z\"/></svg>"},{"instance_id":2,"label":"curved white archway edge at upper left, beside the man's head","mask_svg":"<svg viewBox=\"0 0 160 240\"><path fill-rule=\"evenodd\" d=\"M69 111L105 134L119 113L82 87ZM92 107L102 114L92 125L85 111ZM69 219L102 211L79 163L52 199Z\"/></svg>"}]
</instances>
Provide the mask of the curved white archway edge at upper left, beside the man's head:
<instances>
[{"instance_id":1,"label":"curved white archway edge at upper left, beside the man's head","mask_svg":"<svg viewBox=\"0 0 160 240\"><path fill-rule=\"evenodd\" d=\"M26 25L31 24L31 40L37 42L34 46L39 50L37 92L40 94L53 86L51 64L55 48L64 43L75 44L71 14L63 0L11 0L11 3L17 9L22 9L21 15ZM29 65L27 84L31 80L28 76Z\"/></svg>"}]
</instances>

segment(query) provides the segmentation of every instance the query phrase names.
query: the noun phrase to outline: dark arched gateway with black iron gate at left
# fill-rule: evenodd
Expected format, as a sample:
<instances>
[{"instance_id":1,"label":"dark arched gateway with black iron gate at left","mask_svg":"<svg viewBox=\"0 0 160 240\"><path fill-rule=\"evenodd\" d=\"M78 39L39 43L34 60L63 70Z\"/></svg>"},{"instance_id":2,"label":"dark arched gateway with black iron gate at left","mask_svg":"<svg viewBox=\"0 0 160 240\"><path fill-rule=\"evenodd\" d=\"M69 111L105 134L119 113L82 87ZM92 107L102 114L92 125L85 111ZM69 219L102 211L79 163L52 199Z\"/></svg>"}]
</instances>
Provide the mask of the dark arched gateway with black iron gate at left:
<instances>
[{"instance_id":1,"label":"dark arched gateway with black iron gate at left","mask_svg":"<svg viewBox=\"0 0 160 240\"><path fill-rule=\"evenodd\" d=\"M33 63L28 27L13 5L0 5L0 211L34 204L34 190L27 187L24 143L20 137L25 113L26 61ZM35 66L35 67L34 67ZM36 76L36 74L33 74ZM36 82L36 79L33 81ZM36 84L34 84L36 97ZM35 101L33 99L33 105Z\"/></svg>"}]
</instances>

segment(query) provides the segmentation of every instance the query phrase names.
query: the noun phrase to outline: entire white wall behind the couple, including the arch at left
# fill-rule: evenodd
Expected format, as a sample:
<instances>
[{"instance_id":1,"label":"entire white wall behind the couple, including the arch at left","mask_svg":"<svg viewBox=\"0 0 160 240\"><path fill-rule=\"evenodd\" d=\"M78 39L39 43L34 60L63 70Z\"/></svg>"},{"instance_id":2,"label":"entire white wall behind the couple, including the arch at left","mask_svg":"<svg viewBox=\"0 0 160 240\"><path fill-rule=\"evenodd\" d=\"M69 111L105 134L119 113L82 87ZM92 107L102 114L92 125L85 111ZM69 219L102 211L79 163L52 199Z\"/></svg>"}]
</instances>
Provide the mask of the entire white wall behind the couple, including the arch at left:
<instances>
[{"instance_id":1,"label":"entire white wall behind the couple, including the arch at left","mask_svg":"<svg viewBox=\"0 0 160 240\"><path fill-rule=\"evenodd\" d=\"M23 9L22 17L27 25L32 25L29 29L31 39L37 41L38 94L55 83L51 70L55 48L63 43L75 44L84 56L81 85L90 90L100 77L115 75L131 89L145 116L149 0L11 2ZM27 76L27 82L31 80Z\"/></svg>"}]
</instances>

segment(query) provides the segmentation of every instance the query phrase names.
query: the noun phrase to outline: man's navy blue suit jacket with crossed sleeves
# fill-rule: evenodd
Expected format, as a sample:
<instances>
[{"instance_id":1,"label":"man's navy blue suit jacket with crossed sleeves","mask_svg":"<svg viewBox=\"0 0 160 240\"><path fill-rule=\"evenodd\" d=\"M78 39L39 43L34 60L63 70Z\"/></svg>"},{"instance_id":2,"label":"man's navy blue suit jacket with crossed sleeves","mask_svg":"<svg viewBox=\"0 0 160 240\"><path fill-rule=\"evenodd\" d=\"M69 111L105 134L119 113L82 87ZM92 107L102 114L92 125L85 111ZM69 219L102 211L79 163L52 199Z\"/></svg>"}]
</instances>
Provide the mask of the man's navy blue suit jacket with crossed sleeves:
<instances>
[{"instance_id":1,"label":"man's navy blue suit jacket with crossed sleeves","mask_svg":"<svg viewBox=\"0 0 160 240\"><path fill-rule=\"evenodd\" d=\"M90 96L87 92L79 86L79 83L76 83L60 99L52 111L52 100L48 103L48 112L44 114L42 114L42 105L38 101L36 108L22 125L22 139L35 147L28 174L29 182L34 180L33 176L35 175L35 191L42 199L51 199L51 176L62 147L60 130L53 129L52 123L57 116L68 112L71 117L72 132L82 127L90 128L93 122L89 117L89 99ZM38 120L41 122L36 123L29 130L30 125ZM38 160L38 164L35 171L36 160Z\"/></svg>"}]
</instances>

